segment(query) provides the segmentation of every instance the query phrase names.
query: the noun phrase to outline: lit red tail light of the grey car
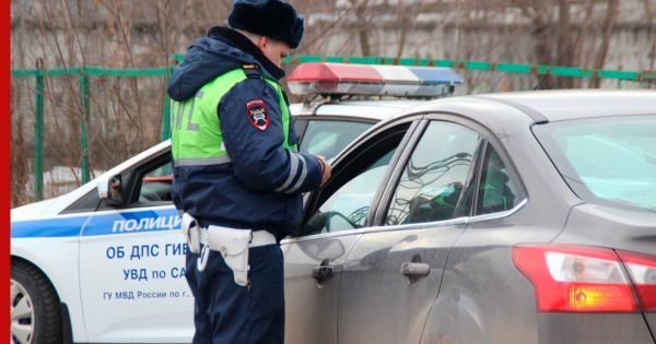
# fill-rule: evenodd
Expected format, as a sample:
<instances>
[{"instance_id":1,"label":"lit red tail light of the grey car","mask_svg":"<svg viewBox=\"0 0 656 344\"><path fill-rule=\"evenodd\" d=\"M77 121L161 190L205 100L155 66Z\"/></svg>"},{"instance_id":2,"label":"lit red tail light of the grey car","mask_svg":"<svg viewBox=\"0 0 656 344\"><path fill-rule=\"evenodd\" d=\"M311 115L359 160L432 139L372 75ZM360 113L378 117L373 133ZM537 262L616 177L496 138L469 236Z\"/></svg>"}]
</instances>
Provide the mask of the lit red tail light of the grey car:
<instances>
[{"instance_id":1,"label":"lit red tail light of the grey car","mask_svg":"<svg viewBox=\"0 0 656 344\"><path fill-rule=\"evenodd\" d=\"M656 308L656 257L585 246L518 245L513 247L513 262L534 285L538 311Z\"/></svg>"}]
</instances>

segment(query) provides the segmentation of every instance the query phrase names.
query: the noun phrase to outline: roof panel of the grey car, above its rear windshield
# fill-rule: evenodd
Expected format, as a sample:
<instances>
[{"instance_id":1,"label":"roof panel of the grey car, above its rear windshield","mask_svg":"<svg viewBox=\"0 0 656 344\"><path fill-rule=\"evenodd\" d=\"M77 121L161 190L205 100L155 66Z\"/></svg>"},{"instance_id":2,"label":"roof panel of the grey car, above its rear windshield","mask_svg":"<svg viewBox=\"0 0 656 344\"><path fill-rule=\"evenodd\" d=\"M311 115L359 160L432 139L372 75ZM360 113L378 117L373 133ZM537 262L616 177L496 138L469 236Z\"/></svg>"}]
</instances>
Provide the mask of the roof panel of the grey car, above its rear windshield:
<instances>
[{"instance_id":1,"label":"roof panel of the grey car, above its rear windshield","mask_svg":"<svg viewBox=\"0 0 656 344\"><path fill-rule=\"evenodd\" d=\"M488 98L543 120L560 121L619 115L656 114L656 92L628 90L560 90L487 94Z\"/></svg>"}]
</instances>

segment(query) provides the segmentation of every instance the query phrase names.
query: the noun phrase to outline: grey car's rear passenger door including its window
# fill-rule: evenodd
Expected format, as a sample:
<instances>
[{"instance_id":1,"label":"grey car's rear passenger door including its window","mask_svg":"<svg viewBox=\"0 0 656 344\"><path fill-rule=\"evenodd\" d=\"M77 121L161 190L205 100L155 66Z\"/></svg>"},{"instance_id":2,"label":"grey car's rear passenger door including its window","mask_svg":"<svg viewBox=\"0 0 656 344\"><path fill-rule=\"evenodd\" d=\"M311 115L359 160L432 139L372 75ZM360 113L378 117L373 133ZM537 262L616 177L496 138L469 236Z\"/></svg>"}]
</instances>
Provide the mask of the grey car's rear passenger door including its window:
<instances>
[{"instance_id":1,"label":"grey car's rear passenger door including its window","mask_svg":"<svg viewBox=\"0 0 656 344\"><path fill-rule=\"evenodd\" d=\"M349 254L339 343L419 343L449 249L466 228L481 146L475 130L453 120L422 122L390 175L376 226Z\"/></svg>"}]
</instances>

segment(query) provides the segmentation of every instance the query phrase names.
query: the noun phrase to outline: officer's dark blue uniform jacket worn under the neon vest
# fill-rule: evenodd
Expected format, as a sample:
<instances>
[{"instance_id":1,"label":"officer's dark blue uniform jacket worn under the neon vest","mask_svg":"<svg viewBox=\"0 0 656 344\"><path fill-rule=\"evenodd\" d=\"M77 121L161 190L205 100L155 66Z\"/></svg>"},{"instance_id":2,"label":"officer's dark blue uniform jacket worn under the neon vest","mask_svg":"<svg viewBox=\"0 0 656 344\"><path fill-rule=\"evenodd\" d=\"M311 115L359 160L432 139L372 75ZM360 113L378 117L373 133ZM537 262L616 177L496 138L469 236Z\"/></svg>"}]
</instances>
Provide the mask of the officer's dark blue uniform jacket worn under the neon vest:
<instances>
[{"instance_id":1,"label":"officer's dark blue uniform jacket worn under the neon vest","mask_svg":"<svg viewBox=\"0 0 656 344\"><path fill-rule=\"evenodd\" d=\"M177 66L168 85L169 96L184 102L216 76L256 64L262 76L279 80L284 72L270 62L243 35L213 27L196 40ZM269 115L266 130L248 119L246 104L262 99ZM248 78L216 99L221 132L232 162L209 166L174 167L173 198L176 207L201 225L268 229L278 239L297 226L302 192L319 187L321 165L313 155L283 149L280 99L261 78ZM290 143L297 140L290 123ZM216 144L220 144L219 142Z\"/></svg>"}]
</instances>

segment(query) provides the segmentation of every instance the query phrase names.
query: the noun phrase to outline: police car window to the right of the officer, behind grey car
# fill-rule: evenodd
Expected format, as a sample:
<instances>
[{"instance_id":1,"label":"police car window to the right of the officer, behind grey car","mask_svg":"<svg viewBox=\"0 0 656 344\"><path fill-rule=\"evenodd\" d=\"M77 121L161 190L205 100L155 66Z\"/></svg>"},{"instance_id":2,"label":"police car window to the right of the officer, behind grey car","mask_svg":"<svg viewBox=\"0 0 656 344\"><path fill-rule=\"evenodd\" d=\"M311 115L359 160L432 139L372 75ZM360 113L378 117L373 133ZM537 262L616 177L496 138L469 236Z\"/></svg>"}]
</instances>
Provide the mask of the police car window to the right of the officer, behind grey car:
<instances>
[{"instance_id":1,"label":"police car window to the right of the officer, behind grey car","mask_svg":"<svg viewBox=\"0 0 656 344\"><path fill-rule=\"evenodd\" d=\"M311 120L298 150L332 159L347 144L372 127L372 123L339 120Z\"/></svg>"}]
</instances>

